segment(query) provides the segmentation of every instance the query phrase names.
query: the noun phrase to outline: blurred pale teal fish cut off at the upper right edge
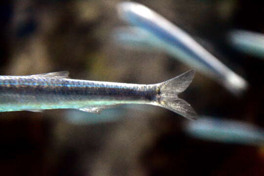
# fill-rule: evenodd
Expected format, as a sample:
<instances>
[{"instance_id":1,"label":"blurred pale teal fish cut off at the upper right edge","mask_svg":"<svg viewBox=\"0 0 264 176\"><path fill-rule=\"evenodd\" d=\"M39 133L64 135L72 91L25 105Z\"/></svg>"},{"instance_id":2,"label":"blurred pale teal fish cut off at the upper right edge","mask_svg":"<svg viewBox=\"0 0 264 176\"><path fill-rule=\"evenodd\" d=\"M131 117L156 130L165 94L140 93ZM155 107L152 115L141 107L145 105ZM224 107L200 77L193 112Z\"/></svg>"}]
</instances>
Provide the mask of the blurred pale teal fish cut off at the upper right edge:
<instances>
[{"instance_id":1,"label":"blurred pale teal fish cut off at the upper right edge","mask_svg":"<svg viewBox=\"0 0 264 176\"><path fill-rule=\"evenodd\" d=\"M246 30L232 30L229 43L237 50L264 59L264 34Z\"/></svg>"}]
</instances>

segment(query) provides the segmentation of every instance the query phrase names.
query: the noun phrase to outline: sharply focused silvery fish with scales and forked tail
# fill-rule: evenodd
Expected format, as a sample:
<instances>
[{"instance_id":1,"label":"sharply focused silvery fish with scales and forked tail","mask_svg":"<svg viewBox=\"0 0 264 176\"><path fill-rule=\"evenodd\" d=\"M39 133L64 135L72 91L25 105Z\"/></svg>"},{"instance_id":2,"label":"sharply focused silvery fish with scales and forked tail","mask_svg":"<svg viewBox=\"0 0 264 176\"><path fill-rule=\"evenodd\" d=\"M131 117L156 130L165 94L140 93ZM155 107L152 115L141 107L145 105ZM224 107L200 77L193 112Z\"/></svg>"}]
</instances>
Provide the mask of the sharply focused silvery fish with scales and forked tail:
<instances>
[{"instance_id":1,"label":"sharply focused silvery fish with scales and forked tail","mask_svg":"<svg viewBox=\"0 0 264 176\"><path fill-rule=\"evenodd\" d=\"M91 113L124 104L155 105L188 119L196 112L178 98L191 84L195 71L189 70L158 84L127 84L76 80L60 71L28 76L0 76L0 112L48 109L78 109Z\"/></svg>"}]
</instances>

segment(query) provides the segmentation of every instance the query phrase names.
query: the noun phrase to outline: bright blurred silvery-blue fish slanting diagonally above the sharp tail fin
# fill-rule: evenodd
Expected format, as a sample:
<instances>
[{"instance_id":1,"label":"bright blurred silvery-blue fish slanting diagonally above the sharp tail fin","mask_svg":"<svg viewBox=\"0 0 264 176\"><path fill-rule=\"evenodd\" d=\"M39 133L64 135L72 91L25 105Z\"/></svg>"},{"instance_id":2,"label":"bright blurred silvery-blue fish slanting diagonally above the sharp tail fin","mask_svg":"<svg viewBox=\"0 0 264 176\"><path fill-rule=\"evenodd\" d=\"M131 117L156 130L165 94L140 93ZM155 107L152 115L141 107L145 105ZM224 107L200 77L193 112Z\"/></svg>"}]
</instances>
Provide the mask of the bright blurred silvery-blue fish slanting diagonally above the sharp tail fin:
<instances>
[{"instance_id":1,"label":"bright blurred silvery-blue fish slanting diagonally above the sharp tail fin","mask_svg":"<svg viewBox=\"0 0 264 176\"><path fill-rule=\"evenodd\" d=\"M234 95L241 96L247 90L248 83L244 78L221 63L188 33L152 9L136 2L125 1L117 4L117 12L121 20L145 30L139 32L144 33L143 41L139 42L140 37L137 41L132 39L134 33L125 40L132 39L133 44L148 43L147 46L154 45L160 48L177 60L216 80ZM147 35L150 37L148 41Z\"/></svg>"}]
</instances>

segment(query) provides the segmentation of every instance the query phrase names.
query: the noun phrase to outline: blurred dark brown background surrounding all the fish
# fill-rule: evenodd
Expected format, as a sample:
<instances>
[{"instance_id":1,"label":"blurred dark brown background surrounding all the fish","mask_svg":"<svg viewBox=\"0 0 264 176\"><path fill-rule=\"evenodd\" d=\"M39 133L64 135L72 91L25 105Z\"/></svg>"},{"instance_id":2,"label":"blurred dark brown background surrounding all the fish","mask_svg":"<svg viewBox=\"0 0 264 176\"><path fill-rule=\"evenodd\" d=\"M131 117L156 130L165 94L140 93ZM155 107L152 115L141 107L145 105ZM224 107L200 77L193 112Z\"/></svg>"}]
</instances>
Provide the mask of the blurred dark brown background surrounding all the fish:
<instances>
[{"instance_id":1,"label":"blurred dark brown background surrounding all the fish","mask_svg":"<svg viewBox=\"0 0 264 176\"><path fill-rule=\"evenodd\" d=\"M128 50L112 39L125 23L119 0L1 0L0 75L67 70L74 79L154 84L190 69L162 52ZM235 51L233 28L264 33L264 2L138 0L200 39L250 88L237 98L200 73L181 97L199 115L264 127L264 61ZM264 148L194 139L187 121L158 107L118 109L99 123L77 110L0 113L0 174L9 176L263 176ZM109 112L110 113L110 112ZM71 123L66 117L94 118ZM102 114L103 115L103 114ZM108 112L105 114L109 117Z\"/></svg>"}]
</instances>

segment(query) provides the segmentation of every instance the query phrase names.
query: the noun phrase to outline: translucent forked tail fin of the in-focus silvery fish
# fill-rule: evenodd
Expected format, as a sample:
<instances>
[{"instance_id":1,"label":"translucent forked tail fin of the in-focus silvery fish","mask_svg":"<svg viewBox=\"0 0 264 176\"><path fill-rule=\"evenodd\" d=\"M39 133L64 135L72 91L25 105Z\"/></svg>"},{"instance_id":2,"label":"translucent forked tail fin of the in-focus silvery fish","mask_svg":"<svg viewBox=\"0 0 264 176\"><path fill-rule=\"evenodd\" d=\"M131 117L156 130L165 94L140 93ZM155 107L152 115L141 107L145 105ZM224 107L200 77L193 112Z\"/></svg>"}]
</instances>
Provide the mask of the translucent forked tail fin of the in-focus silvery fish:
<instances>
[{"instance_id":1,"label":"translucent forked tail fin of the in-focus silvery fish","mask_svg":"<svg viewBox=\"0 0 264 176\"><path fill-rule=\"evenodd\" d=\"M157 95L158 106L172 110L188 119L195 120L196 112L186 101L178 98L191 84L195 75L194 70L189 70L173 79L158 84L159 94Z\"/></svg>"}]
</instances>

